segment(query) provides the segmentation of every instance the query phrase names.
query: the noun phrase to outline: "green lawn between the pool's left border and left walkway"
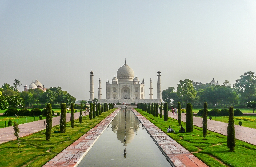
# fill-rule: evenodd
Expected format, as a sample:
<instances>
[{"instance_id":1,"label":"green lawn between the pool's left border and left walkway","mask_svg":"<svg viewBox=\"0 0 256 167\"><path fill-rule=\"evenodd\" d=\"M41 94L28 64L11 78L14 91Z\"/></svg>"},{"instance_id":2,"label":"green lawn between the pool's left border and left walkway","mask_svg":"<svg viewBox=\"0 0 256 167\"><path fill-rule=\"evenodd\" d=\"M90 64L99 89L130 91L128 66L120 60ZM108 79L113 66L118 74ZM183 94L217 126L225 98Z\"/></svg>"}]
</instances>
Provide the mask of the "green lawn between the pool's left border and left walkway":
<instances>
[{"instance_id":1,"label":"green lawn between the pool's left border and left walkway","mask_svg":"<svg viewBox=\"0 0 256 167\"><path fill-rule=\"evenodd\" d=\"M59 129L59 125L57 125L53 127L49 141L45 140L45 131L21 137L21 153L18 152L16 140L3 143L0 145L0 166L43 166L116 109L111 109L91 120L89 115L84 116L82 124L79 124L79 119L77 119L74 128L71 128L71 123L68 122L66 133L54 133Z\"/></svg>"}]
</instances>

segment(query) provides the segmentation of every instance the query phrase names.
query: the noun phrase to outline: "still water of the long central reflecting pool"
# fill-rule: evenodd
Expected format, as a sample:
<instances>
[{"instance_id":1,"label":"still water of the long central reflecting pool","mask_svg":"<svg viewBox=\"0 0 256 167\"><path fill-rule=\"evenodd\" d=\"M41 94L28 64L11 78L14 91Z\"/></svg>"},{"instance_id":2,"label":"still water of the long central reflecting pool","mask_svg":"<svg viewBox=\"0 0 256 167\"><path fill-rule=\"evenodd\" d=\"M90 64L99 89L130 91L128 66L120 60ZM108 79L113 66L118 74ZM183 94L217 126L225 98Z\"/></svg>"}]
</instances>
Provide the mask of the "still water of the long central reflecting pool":
<instances>
[{"instance_id":1,"label":"still water of the long central reflecting pool","mask_svg":"<svg viewBox=\"0 0 256 167\"><path fill-rule=\"evenodd\" d=\"M126 113L126 134L125 134ZM126 142L124 138L126 137ZM126 147L126 156L124 149ZM171 166L131 109L121 109L78 167Z\"/></svg>"}]
</instances>

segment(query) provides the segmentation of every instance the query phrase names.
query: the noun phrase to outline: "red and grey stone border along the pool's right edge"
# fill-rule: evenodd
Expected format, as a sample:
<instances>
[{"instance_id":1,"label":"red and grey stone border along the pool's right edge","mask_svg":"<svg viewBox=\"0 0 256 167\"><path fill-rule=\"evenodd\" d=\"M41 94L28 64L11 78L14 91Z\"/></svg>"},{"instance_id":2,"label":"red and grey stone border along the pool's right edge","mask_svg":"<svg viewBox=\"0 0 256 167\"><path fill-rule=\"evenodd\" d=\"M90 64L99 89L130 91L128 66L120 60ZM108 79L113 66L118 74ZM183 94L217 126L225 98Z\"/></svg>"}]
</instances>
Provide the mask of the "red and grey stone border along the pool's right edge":
<instances>
[{"instance_id":1,"label":"red and grey stone border along the pool's right edge","mask_svg":"<svg viewBox=\"0 0 256 167\"><path fill-rule=\"evenodd\" d=\"M201 160L191 154L188 150L178 144L175 140L171 139L161 129L147 120L135 109L131 108L139 121L143 124L152 139L158 145L161 152L165 155L166 159L170 159L172 166L176 167L207 167ZM174 164L174 165L173 165Z\"/></svg>"}]
</instances>

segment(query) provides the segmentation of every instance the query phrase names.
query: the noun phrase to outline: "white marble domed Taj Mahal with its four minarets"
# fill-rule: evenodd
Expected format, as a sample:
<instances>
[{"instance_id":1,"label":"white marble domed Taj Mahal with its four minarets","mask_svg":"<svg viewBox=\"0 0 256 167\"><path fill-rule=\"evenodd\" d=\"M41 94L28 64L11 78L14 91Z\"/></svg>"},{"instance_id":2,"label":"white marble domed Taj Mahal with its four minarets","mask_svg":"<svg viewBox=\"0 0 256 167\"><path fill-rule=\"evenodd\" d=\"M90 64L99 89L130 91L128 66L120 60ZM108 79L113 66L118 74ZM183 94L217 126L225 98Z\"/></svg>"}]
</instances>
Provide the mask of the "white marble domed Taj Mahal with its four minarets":
<instances>
[{"instance_id":1,"label":"white marble domed Taj Mahal with its four minarets","mask_svg":"<svg viewBox=\"0 0 256 167\"><path fill-rule=\"evenodd\" d=\"M94 72L90 72L90 101L94 99ZM117 70L117 75L111 82L106 82L106 97L101 97L101 78L99 78L98 100L99 103L160 103L162 102L161 91L161 72L157 72L157 99L153 99L152 79L149 79L149 99L145 99L144 81L140 81L137 76L134 77L133 69L126 64Z\"/></svg>"}]
</instances>

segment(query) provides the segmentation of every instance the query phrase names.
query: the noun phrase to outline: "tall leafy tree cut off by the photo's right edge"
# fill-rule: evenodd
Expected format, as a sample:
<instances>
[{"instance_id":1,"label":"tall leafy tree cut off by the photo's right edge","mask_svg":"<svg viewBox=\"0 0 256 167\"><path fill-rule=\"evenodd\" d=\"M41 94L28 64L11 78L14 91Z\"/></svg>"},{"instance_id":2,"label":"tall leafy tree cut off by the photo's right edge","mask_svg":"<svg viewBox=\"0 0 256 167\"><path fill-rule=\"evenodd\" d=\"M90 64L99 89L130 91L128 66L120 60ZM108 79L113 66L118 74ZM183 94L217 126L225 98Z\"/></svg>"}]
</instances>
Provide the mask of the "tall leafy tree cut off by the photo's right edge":
<instances>
[{"instance_id":1,"label":"tall leafy tree cut off by the photo's right edge","mask_svg":"<svg viewBox=\"0 0 256 167\"><path fill-rule=\"evenodd\" d=\"M256 100L256 76L253 71L245 72L235 81L233 87L241 95L241 102Z\"/></svg>"}]
</instances>

